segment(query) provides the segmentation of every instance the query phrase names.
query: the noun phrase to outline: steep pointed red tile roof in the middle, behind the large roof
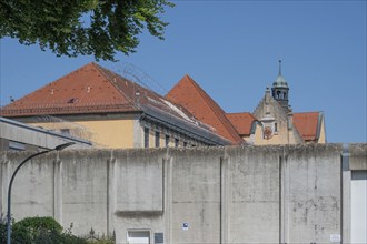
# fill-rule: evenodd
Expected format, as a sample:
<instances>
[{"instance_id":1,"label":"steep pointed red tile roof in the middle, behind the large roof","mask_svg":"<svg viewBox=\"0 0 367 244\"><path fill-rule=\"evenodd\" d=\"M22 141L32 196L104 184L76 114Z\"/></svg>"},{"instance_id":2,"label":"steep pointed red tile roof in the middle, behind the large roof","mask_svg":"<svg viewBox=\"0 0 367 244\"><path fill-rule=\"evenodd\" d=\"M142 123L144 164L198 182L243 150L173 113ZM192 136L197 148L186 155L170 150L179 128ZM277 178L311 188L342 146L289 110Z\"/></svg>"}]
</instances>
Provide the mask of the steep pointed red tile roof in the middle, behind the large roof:
<instances>
[{"instance_id":1,"label":"steep pointed red tile roof in the middle, behind the large roof","mask_svg":"<svg viewBox=\"0 0 367 244\"><path fill-rule=\"evenodd\" d=\"M185 75L166 98L186 108L199 121L212 126L232 144L244 143L225 111L189 75Z\"/></svg>"}]
</instances>

